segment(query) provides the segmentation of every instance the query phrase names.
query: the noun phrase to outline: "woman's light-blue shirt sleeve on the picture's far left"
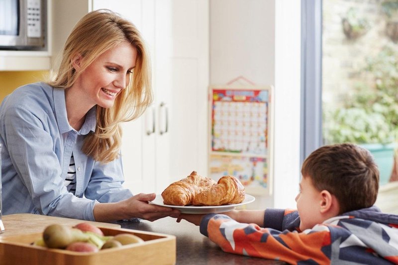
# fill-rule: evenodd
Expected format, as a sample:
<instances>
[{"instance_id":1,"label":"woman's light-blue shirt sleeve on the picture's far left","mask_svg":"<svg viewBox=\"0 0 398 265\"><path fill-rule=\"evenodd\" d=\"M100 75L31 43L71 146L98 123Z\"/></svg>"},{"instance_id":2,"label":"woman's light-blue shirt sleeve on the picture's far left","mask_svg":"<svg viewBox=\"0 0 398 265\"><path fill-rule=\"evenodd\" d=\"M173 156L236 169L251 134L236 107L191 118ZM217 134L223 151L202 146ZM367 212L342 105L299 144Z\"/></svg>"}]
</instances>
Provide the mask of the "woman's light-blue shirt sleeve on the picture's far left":
<instances>
[{"instance_id":1,"label":"woman's light-blue shirt sleeve on the picture's far left","mask_svg":"<svg viewBox=\"0 0 398 265\"><path fill-rule=\"evenodd\" d=\"M34 102L14 103L3 111L1 137L13 166L7 174L14 172L10 181L21 181L27 189L23 194L14 191L19 199L13 207L22 207L18 205L20 201L32 201L30 210L37 209L41 214L93 220L90 209L94 202L73 196L64 185L60 161L53 149L53 135L59 133L54 117Z\"/></svg>"}]
</instances>

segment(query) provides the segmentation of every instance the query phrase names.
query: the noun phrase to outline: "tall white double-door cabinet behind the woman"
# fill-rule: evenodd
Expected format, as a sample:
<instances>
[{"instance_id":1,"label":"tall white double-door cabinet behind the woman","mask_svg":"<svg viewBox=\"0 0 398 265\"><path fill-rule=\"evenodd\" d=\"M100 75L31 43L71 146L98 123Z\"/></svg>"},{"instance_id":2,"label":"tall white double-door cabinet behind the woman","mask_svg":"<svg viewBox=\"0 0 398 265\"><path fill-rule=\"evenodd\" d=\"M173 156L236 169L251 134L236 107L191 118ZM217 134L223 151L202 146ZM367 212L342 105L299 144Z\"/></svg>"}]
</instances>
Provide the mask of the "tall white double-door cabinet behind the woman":
<instances>
[{"instance_id":1,"label":"tall white double-door cabinet behind the woman","mask_svg":"<svg viewBox=\"0 0 398 265\"><path fill-rule=\"evenodd\" d=\"M151 53L154 102L123 124L125 186L160 193L207 175L208 0L94 0L99 8L131 20Z\"/></svg>"}]
</instances>

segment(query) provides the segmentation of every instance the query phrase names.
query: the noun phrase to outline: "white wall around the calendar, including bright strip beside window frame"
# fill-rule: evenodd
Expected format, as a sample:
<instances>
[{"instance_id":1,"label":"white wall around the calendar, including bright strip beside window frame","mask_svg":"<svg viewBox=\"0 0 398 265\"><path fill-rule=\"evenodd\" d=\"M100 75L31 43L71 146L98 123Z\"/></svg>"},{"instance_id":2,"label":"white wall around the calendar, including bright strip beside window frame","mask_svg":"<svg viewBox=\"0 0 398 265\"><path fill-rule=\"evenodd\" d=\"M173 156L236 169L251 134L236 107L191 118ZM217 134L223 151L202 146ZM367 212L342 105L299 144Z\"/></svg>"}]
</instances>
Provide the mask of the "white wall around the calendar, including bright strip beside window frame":
<instances>
[{"instance_id":1,"label":"white wall around the calendar, including bright strip beside window frame","mask_svg":"<svg viewBox=\"0 0 398 265\"><path fill-rule=\"evenodd\" d=\"M300 139L300 1L210 0L210 85L244 76L275 86L271 196L248 208L296 207Z\"/></svg>"}]
</instances>

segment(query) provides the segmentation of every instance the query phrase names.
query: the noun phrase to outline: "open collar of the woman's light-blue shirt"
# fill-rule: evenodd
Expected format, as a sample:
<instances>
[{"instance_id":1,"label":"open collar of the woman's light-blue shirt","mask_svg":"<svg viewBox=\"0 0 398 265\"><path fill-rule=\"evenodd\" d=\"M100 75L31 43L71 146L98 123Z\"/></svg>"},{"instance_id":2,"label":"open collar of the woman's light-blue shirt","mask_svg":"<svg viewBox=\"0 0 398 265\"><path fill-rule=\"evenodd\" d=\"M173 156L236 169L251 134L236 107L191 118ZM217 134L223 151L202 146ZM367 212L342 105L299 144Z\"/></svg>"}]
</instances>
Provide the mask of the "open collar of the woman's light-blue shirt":
<instances>
[{"instance_id":1,"label":"open collar of the woman's light-blue shirt","mask_svg":"<svg viewBox=\"0 0 398 265\"><path fill-rule=\"evenodd\" d=\"M54 88L54 108L55 115L57 117L58 128L60 133L66 133L74 130L69 124L68 115L66 113L66 103L65 103L65 89L64 88ZM97 125L97 106L92 107L86 114L86 120L83 123L79 134L85 135L90 131L95 132Z\"/></svg>"}]
</instances>

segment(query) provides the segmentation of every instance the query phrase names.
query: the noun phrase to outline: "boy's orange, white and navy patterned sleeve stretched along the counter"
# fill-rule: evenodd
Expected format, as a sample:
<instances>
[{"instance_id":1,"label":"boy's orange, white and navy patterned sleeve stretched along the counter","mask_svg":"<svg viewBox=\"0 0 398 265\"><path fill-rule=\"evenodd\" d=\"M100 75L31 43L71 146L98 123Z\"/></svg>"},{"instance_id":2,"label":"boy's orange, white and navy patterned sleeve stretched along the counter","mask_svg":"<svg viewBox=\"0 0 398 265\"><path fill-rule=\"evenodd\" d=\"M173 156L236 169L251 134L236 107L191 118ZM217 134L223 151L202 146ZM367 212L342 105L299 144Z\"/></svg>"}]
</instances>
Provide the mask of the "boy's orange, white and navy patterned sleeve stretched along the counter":
<instances>
[{"instance_id":1,"label":"boy's orange, white and navy patterned sleeve stretched along the counter","mask_svg":"<svg viewBox=\"0 0 398 265\"><path fill-rule=\"evenodd\" d=\"M257 224L238 223L224 214L208 214L201 220L200 232L229 253L289 264L308 260L314 264L330 263L322 252L322 248L330 244L330 232L324 228L311 233L281 232L260 228Z\"/></svg>"}]
</instances>

